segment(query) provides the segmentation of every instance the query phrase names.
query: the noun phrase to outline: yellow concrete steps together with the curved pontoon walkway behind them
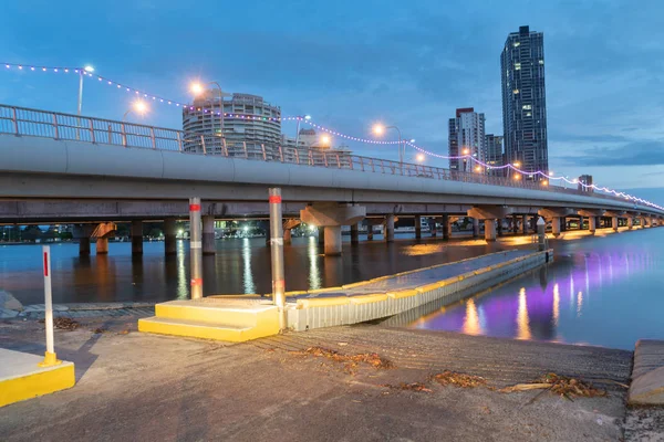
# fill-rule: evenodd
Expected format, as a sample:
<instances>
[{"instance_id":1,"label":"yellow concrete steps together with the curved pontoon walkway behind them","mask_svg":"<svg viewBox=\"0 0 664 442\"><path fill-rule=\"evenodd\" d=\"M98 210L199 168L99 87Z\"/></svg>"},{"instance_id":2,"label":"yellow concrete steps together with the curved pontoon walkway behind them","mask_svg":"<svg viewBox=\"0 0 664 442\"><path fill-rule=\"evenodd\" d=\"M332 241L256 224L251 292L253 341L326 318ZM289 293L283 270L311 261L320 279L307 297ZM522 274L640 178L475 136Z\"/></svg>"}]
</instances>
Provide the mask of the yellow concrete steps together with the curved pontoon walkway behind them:
<instances>
[{"instance_id":1,"label":"yellow concrete steps together with the curved pontoon walkway behind them","mask_svg":"<svg viewBox=\"0 0 664 442\"><path fill-rule=\"evenodd\" d=\"M287 293L288 329L357 324L512 278L553 260L551 250L512 250L317 291ZM141 332L245 341L279 333L279 313L261 295L207 296L157 304Z\"/></svg>"}]
</instances>

